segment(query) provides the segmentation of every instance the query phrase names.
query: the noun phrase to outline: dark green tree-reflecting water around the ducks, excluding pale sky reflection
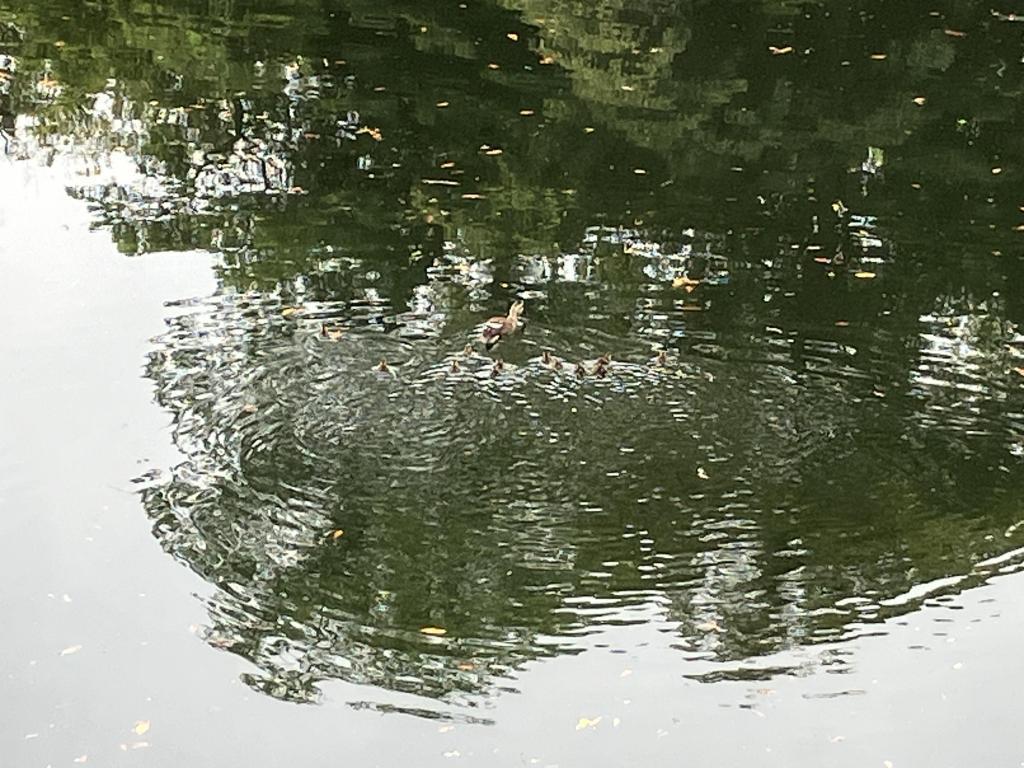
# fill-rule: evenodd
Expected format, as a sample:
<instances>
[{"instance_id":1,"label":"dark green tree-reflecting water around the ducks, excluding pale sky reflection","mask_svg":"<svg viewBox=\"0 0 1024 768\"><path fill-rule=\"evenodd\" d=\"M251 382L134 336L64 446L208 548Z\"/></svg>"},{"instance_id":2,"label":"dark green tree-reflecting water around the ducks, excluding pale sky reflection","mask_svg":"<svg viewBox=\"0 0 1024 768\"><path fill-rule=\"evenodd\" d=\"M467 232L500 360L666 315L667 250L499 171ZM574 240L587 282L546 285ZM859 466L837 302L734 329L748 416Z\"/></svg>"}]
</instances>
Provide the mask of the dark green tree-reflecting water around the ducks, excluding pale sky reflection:
<instances>
[{"instance_id":1,"label":"dark green tree-reflecting water around the ducks, excluding pale sky reflection","mask_svg":"<svg viewBox=\"0 0 1024 768\"><path fill-rule=\"evenodd\" d=\"M145 367L183 461L136 478L206 642L441 717L634 624L803 674L1019 562L1009 12L0 0L0 148L126 259L214 254Z\"/></svg>"}]
</instances>

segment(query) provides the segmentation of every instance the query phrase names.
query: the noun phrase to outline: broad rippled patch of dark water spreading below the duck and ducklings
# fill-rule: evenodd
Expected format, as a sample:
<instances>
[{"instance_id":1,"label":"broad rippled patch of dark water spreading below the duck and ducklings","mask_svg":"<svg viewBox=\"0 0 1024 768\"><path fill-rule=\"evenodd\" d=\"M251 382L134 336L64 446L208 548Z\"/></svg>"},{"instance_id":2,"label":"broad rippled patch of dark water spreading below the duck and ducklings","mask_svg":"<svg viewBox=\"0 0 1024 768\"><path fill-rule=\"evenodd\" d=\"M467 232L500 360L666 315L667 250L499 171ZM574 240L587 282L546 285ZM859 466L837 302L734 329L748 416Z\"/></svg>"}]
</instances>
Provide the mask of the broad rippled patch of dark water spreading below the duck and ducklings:
<instances>
[{"instance_id":1,"label":"broad rippled patch of dark water spreading below the duck and ducklings","mask_svg":"<svg viewBox=\"0 0 1024 768\"><path fill-rule=\"evenodd\" d=\"M344 679L471 701L633 624L726 665L708 679L757 676L770 666L744 659L855 636L998 554L985 537L1020 428L986 397L1017 395L949 373L927 335L916 366L850 334L772 331L659 361L642 337L535 322L495 372L466 333L410 338L371 319L386 314L218 294L151 358L186 457L144 492L155 531L218 587L207 641L251 658L247 682L271 695ZM965 408L922 378L940 352L946 375L989 382L963 390L986 439L949 416L933 428L936 407ZM962 487L979 476L981 517Z\"/></svg>"}]
</instances>

